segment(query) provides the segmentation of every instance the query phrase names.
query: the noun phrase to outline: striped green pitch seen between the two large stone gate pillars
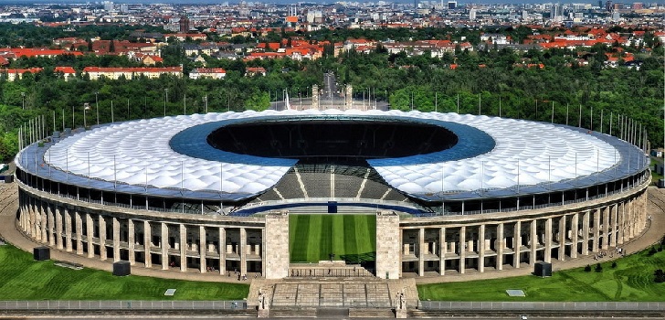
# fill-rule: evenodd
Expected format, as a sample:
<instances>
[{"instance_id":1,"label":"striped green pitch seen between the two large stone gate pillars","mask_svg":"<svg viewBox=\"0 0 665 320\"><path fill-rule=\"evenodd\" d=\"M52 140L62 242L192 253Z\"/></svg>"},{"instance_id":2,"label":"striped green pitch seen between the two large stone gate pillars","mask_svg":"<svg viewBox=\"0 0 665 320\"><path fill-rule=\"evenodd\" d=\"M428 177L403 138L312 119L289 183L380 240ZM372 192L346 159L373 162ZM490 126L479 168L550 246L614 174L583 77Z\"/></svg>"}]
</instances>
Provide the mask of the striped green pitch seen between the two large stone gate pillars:
<instances>
[{"instance_id":1,"label":"striped green pitch seen between the two large stone gate pillars","mask_svg":"<svg viewBox=\"0 0 665 320\"><path fill-rule=\"evenodd\" d=\"M290 215L292 262L328 260L375 261L374 215Z\"/></svg>"}]
</instances>

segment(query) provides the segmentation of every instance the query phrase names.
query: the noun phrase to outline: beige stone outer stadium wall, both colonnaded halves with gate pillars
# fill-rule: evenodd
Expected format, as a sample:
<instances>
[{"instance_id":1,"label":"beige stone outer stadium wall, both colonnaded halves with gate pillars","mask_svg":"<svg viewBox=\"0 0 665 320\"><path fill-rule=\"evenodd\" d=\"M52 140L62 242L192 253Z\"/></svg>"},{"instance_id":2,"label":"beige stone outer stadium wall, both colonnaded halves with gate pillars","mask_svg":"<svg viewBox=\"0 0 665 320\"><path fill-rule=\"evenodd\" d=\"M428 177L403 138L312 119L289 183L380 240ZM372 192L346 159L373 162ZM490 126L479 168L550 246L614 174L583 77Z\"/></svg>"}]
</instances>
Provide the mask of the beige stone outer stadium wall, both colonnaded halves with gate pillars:
<instances>
[{"instance_id":1,"label":"beige stone outer stadium wall, both colonnaded halves with gate pillars","mask_svg":"<svg viewBox=\"0 0 665 320\"><path fill-rule=\"evenodd\" d=\"M375 275L501 271L616 250L646 226L649 181L647 174L613 195L558 207L408 219L379 213ZM284 213L257 218L164 213L17 184L20 229L54 249L162 270L290 274Z\"/></svg>"}]
</instances>

